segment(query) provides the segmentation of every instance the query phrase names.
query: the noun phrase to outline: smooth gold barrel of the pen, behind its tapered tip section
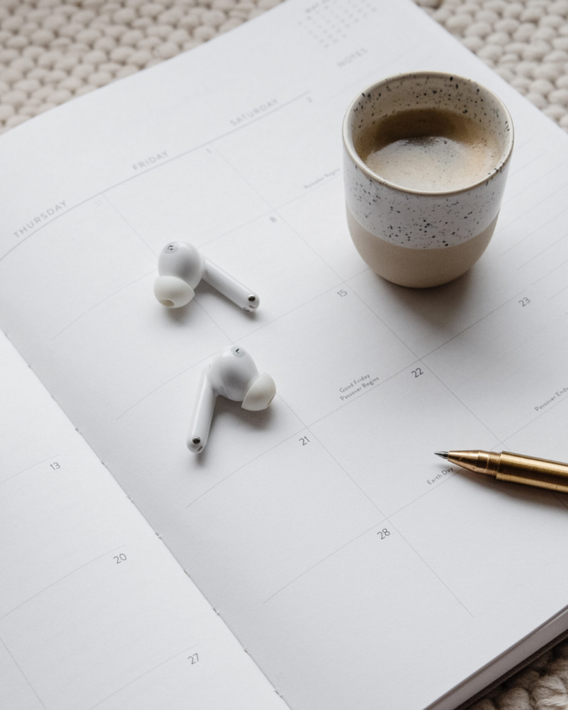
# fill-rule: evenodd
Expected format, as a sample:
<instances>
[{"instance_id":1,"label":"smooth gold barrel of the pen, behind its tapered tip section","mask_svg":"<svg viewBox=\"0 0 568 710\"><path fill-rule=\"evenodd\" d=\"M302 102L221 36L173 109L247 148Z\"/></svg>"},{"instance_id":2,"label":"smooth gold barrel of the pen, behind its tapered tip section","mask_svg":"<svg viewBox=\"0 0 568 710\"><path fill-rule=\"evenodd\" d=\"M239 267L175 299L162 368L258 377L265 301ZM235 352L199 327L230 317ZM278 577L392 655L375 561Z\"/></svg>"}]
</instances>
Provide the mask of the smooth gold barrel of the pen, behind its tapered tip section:
<instances>
[{"instance_id":1,"label":"smooth gold barrel of the pen, behind its tapered tip section","mask_svg":"<svg viewBox=\"0 0 568 710\"><path fill-rule=\"evenodd\" d=\"M495 464L493 464L495 466ZM492 471L498 481L568 493L568 464L503 452Z\"/></svg>"}]
</instances>

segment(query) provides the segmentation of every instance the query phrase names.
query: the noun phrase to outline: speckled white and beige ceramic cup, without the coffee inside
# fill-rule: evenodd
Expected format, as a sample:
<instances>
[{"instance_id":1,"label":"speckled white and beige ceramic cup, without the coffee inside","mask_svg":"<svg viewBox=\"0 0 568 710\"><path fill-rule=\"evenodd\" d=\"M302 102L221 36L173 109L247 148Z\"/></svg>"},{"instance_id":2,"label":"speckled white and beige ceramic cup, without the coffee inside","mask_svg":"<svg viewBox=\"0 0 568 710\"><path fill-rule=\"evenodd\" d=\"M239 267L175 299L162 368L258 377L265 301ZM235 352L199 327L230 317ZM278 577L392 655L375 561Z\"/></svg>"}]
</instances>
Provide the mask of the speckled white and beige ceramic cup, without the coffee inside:
<instances>
[{"instance_id":1,"label":"speckled white and beige ceramic cup, without the coffee inside","mask_svg":"<svg viewBox=\"0 0 568 710\"><path fill-rule=\"evenodd\" d=\"M412 190L374 173L356 151L376 121L411 109L467 114L497 141L490 172L444 192ZM395 75L357 95L343 123L347 224L366 263L393 283L437 286L484 253L497 222L513 151L513 122L501 99L471 79L442 72Z\"/></svg>"}]
</instances>

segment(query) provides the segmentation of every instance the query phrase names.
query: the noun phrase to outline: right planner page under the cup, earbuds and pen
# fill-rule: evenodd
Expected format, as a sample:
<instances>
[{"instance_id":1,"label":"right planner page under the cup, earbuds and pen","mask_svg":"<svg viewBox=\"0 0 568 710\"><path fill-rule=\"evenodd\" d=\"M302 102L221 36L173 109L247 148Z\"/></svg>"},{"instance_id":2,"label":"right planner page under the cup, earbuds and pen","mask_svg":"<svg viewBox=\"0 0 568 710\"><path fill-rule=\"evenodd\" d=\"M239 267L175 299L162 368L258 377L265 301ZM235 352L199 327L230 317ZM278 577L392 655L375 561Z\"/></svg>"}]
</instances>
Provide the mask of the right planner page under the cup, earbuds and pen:
<instances>
[{"instance_id":1,"label":"right planner page under the cup, earbuds and pen","mask_svg":"<svg viewBox=\"0 0 568 710\"><path fill-rule=\"evenodd\" d=\"M486 84L516 131L488 250L425 291L356 253L341 145L357 92L424 69ZM433 452L568 459L568 137L410 1L291 0L18 127L0 163L1 327L290 708L423 708L567 606L567 497ZM162 307L175 239L258 311L204 284ZM219 398L191 454L202 368L230 344L278 394ZM150 574L129 549L109 532L79 574Z\"/></svg>"}]
</instances>

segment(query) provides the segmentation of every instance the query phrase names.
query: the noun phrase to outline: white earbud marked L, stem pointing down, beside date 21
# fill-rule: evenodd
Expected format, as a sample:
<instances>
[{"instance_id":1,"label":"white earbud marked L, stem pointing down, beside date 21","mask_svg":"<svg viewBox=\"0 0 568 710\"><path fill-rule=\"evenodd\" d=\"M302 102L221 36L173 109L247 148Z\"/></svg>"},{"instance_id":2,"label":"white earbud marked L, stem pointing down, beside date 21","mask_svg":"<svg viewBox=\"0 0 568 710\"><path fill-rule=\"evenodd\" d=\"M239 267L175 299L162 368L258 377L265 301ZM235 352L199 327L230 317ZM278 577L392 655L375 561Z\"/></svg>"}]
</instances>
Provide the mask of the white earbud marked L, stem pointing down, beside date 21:
<instances>
[{"instance_id":1,"label":"white earbud marked L, stem pointing down, beside date 21","mask_svg":"<svg viewBox=\"0 0 568 710\"><path fill-rule=\"evenodd\" d=\"M219 395L251 412L266 409L276 394L273 378L266 372L258 374L253 359L243 348L234 345L215 356L201 376L187 448L194 454L203 451L209 437L215 400Z\"/></svg>"}]
</instances>

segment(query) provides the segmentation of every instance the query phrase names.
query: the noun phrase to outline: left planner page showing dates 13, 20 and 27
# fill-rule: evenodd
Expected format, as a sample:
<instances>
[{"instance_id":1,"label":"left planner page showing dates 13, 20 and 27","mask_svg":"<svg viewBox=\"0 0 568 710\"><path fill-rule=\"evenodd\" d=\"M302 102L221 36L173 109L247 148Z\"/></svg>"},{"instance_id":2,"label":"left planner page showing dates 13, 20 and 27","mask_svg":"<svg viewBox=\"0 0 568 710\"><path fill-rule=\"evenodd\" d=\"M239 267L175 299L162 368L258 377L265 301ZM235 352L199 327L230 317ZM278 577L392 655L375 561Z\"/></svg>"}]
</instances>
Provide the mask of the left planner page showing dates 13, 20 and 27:
<instances>
[{"instance_id":1,"label":"left planner page showing dates 13, 20 and 27","mask_svg":"<svg viewBox=\"0 0 568 710\"><path fill-rule=\"evenodd\" d=\"M0 335L0 707L285 710Z\"/></svg>"}]
</instances>

